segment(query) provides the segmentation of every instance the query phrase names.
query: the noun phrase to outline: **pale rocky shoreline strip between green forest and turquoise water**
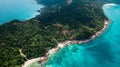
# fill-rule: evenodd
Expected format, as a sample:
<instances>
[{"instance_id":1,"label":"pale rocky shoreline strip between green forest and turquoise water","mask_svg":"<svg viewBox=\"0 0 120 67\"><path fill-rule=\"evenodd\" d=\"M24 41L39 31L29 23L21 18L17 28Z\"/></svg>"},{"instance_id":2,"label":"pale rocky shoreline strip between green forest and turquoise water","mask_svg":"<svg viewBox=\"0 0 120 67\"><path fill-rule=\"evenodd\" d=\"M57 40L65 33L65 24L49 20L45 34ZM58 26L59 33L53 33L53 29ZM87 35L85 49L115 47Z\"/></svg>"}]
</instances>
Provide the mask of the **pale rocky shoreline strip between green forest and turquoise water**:
<instances>
[{"instance_id":1,"label":"pale rocky shoreline strip between green forest and turquoise water","mask_svg":"<svg viewBox=\"0 0 120 67\"><path fill-rule=\"evenodd\" d=\"M48 60L49 56L51 54L56 53L57 51L59 51L60 49L62 49L65 46L68 46L70 44L82 44L82 43L87 43L90 42L91 40L93 40L94 38L97 38L109 25L110 21L109 20L105 20L104 21L104 27L100 30L97 31L93 36L91 36L89 39L86 40L67 40L64 42L60 42L58 43L58 45L55 48L50 49L45 56L43 57L38 57L38 58L34 58L31 60L28 60L24 63L24 65L22 67L27 67L28 65L32 64L33 62L39 62L39 64L41 65L41 67L45 64L45 62Z\"/></svg>"}]
</instances>

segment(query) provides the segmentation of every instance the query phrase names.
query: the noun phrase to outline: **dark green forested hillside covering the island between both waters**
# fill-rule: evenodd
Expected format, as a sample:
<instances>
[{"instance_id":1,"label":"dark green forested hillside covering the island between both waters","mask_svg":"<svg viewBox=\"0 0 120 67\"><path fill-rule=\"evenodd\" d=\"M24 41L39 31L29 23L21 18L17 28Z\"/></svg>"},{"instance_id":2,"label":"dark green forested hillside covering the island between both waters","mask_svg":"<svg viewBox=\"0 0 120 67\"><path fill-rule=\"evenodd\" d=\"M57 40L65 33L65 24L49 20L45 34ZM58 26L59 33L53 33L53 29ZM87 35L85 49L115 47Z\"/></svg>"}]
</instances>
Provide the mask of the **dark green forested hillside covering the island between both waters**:
<instances>
[{"instance_id":1,"label":"dark green forested hillside covering the island between both waters","mask_svg":"<svg viewBox=\"0 0 120 67\"><path fill-rule=\"evenodd\" d=\"M65 40L84 40L103 28L106 19L102 0L37 0L45 5L41 14L26 21L0 25L0 66L20 67Z\"/></svg>"}]
</instances>

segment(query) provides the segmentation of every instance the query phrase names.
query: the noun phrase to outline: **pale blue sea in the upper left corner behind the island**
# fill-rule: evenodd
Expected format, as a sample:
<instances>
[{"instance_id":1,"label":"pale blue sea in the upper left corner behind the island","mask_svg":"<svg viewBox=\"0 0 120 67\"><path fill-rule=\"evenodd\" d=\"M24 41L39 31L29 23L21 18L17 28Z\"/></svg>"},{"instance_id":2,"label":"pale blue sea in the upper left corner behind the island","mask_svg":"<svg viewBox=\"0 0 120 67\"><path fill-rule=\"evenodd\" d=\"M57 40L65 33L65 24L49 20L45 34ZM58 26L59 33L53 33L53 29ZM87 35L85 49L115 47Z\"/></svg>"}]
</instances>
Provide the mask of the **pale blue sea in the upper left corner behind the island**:
<instances>
[{"instance_id":1,"label":"pale blue sea in the upper left corner behind the island","mask_svg":"<svg viewBox=\"0 0 120 67\"><path fill-rule=\"evenodd\" d=\"M36 0L0 0L0 25L14 19L33 18L42 7Z\"/></svg>"}]
</instances>

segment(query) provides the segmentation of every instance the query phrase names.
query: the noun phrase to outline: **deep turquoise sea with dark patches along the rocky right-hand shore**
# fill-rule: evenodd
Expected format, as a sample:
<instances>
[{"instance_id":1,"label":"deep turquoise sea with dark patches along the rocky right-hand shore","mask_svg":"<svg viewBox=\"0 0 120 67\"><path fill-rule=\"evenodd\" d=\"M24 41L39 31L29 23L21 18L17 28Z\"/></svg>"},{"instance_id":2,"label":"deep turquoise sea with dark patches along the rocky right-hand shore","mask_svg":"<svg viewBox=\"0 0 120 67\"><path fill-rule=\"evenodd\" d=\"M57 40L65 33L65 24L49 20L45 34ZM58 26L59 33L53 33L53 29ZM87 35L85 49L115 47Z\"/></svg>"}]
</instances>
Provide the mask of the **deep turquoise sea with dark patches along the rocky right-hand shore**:
<instances>
[{"instance_id":1,"label":"deep turquoise sea with dark patches along the rocky right-hand shore","mask_svg":"<svg viewBox=\"0 0 120 67\"><path fill-rule=\"evenodd\" d=\"M70 45L52 55L45 67L120 67L120 6L103 6L111 23L93 41Z\"/></svg>"}]
</instances>

